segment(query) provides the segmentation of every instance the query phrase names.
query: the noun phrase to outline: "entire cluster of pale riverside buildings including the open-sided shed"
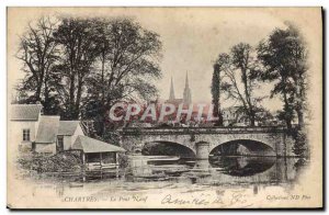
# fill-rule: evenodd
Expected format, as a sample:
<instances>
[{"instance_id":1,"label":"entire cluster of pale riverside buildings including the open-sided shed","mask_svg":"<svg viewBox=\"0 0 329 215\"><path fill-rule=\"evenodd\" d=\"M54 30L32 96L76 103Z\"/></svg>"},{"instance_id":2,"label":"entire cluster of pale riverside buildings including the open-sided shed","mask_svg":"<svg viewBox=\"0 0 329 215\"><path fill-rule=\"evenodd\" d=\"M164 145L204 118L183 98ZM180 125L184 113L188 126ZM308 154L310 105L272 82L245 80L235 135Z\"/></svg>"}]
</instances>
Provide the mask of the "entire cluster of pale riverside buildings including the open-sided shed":
<instances>
[{"instance_id":1,"label":"entire cluster of pale riverside buildings including the open-sided shed","mask_svg":"<svg viewBox=\"0 0 329 215\"><path fill-rule=\"evenodd\" d=\"M10 136L19 137L19 151L55 155L80 150L84 163L95 160L100 167L117 165L117 152L125 149L84 136L80 121L60 121L57 115L42 115L41 104L15 104L11 109ZM98 160L99 159L99 160ZM92 165L91 165L92 166Z\"/></svg>"}]
</instances>

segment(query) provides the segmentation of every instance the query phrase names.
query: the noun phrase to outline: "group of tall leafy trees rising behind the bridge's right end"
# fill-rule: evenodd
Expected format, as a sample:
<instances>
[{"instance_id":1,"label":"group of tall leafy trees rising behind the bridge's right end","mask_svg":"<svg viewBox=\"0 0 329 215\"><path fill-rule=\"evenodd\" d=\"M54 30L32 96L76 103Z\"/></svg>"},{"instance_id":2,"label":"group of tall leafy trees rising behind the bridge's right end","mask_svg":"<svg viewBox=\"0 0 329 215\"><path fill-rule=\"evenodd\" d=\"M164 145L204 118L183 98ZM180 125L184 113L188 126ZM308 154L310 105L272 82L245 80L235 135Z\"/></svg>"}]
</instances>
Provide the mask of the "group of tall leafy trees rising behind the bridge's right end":
<instances>
[{"instance_id":1,"label":"group of tall leafy trees rising behind the bridge's right end","mask_svg":"<svg viewBox=\"0 0 329 215\"><path fill-rule=\"evenodd\" d=\"M228 54L219 54L213 73L213 103L218 109L218 97L238 102L236 111L248 117L250 125L259 121L260 112L268 112L261 105L264 97L256 97L254 89L265 81L273 84L269 98L280 97L282 110L277 111L279 121L292 128L297 117L298 127L304 126L307 111L307 45L299 30L286 23L286 29L275 29L257 48L239 43ZM216 70L216 72L215 72ZM219 76L218 76L218 71ZM216 79L216 80L215 80ZM220 80L220 82L218 82ZM262 124L264 120L262 118Z\"/></svg>"}]
</instances>

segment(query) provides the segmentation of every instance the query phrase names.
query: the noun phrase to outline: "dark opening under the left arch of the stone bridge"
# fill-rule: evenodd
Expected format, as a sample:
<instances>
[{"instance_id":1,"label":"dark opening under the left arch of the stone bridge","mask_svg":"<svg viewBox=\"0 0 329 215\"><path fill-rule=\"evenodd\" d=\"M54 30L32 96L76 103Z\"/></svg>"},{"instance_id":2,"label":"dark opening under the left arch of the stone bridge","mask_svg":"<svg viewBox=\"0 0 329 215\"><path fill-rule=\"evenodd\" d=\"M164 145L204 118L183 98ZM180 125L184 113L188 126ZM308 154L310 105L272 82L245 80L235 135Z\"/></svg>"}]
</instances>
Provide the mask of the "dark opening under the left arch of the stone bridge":
<instances>
[{"instance_id":1,"label":"dark opening under the left arch of the stone bridge","mask_svg":"<svg viewBox=\"0 0 329 215\"><path fill-rule=\"evenodd\" d=\"M180 156L186 158L195 157L194 152L182 145L175 143L147 143L141 149L145 156Z\"/></svg>"}]
</instances>

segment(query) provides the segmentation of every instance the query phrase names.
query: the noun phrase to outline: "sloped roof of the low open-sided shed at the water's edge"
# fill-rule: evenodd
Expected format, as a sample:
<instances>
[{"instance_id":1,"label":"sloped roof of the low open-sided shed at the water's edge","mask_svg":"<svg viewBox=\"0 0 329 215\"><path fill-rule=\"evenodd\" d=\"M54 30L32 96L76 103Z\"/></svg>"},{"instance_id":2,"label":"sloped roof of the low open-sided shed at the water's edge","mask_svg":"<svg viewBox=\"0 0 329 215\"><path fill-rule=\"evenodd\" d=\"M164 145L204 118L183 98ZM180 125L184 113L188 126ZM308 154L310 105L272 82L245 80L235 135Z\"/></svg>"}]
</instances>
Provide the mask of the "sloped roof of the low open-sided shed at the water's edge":
<instances>
[{"instance_id":1,"label":"sloped roof of the low open-sided shed at the water's edge","mask_svg":"<svg viewBox=\"0 0 329 215\"><path fill-rule=\"evenodd\" d=\"M105 142L101 142L82 135L79 135L77 137L75 144L72 145L72 149L80 149L86 154L126 151L124 148L121 148L118 146L114 146L112 144L107 144Z\"/></svg>"}]
</instances>

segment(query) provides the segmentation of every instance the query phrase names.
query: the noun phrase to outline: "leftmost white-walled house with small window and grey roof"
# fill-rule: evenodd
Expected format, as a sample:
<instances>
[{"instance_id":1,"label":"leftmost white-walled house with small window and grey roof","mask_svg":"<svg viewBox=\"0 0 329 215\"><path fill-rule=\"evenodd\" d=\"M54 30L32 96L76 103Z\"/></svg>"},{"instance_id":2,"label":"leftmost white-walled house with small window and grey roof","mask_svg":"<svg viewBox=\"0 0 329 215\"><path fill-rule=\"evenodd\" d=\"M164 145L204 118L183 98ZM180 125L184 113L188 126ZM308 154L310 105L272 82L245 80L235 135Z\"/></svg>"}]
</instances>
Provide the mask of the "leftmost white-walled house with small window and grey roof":
<instances>
[{"instance_id":1,"label":"leftmost white-walled house with small window and grey roof","mask_svg":"<svg viewBox=\"0 0 329 215\"><path fill-rule=\"evenodd\" d=\"M42 114L41 104L13 104L10 113L10 138L18 143L19 151L31 151Z\"/></svg>"}]
</instances>

